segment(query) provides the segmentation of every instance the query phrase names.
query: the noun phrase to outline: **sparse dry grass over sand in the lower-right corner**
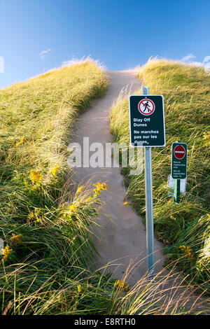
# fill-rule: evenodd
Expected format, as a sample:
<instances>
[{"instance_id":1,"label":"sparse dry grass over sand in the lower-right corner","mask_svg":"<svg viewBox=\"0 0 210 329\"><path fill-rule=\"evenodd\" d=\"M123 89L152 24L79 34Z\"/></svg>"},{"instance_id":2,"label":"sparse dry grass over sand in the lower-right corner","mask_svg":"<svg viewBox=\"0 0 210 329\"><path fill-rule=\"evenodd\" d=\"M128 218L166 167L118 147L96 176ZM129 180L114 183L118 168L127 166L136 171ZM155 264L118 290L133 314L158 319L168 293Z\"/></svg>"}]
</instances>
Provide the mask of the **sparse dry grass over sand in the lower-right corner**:
<instances>
[{"instance_id":1,"label":"sparse dry grass over sand in the lower-right corner","mask_svg":"<svg viewBox=\"0 0 210 329\"><path fill-rule=\"evenodd\" d=\"M116 314L123 315L186 315L209 314L209 298L198 293L188 278L173 264L170 272L164 270L151 280L142 277L124 296L116 296L113 303ZM175 269L175 271L174 271ZM189 281L189 280L188 280Z\"/></svg>"}]
</instances>

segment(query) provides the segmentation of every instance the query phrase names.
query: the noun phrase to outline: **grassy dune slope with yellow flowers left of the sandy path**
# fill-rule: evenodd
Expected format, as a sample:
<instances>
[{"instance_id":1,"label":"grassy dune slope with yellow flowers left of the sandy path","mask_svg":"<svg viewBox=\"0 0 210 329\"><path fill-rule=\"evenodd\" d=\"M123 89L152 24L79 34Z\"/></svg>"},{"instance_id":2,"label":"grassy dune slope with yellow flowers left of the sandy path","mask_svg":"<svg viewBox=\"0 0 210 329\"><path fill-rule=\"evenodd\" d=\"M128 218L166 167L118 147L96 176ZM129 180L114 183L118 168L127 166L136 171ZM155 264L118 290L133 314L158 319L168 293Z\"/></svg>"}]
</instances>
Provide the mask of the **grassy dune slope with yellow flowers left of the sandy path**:
<instances>
[{"instance_id":1,"label":"grassy dune slope with yellow flowers left of the sandy path","mask_svg":"<svg viewBox=\"0 0 210 329\"><path fill-rule=\"evenodd\" d=\"M88 269L93 248L88 225L98 195L86 188L71 197L65 185L71 177L69 133L106 86L104 71L86 61L0 90L0 237L9 248L0 262L1 312L109 309L106 296L113 284L109 289L106 279ZM39 181L32 183L31 169L43 175Z\"/></svg>"}]
</instances>

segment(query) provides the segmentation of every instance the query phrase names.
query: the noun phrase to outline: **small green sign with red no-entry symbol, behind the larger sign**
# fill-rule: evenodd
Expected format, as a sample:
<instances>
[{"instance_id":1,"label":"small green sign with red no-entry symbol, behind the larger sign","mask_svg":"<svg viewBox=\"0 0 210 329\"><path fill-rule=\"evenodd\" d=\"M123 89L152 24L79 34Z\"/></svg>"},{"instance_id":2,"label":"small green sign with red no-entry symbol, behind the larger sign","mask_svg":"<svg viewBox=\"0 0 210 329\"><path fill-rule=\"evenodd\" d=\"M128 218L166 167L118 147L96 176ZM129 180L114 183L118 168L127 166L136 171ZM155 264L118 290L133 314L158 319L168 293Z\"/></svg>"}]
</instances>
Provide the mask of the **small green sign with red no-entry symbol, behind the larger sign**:
<instances>
[{"instance_id":1,"label":"small green sign with red no-entry symbol, behind the larger sign","mask_svg":"<svg viewBox=\"0 0 210 329\"><path fill-rule=\"evenodd\" d=\"M187 151L186 143L175 142L172 144L172 179L186 179Z\"/></svg>"}]
</instances>

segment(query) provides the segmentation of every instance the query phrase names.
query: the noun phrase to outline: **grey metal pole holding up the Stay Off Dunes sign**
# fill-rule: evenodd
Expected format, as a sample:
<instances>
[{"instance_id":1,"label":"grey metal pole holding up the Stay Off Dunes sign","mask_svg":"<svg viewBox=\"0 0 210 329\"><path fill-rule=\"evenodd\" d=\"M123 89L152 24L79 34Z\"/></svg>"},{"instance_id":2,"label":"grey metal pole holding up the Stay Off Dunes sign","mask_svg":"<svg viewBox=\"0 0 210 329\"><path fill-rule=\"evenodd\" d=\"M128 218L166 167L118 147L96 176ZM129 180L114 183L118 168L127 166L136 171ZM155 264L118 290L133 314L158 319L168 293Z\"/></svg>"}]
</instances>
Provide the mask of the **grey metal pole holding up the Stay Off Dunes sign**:
<instances>
[{"instance_id":1,"label":"grey metal pole holding up the Stay Off Dunes sign","mask_svg":"<svg viewBox=\"0 0 210 329\"><path fill-rule=\"evenodd\" d=\"M149 88L142 87L148 95ZM154 224L153 224L153 176L151 147L144 148L145 192L146 192L146 253L149 278L154 276Z\"/></svg>"}]
</instances>

